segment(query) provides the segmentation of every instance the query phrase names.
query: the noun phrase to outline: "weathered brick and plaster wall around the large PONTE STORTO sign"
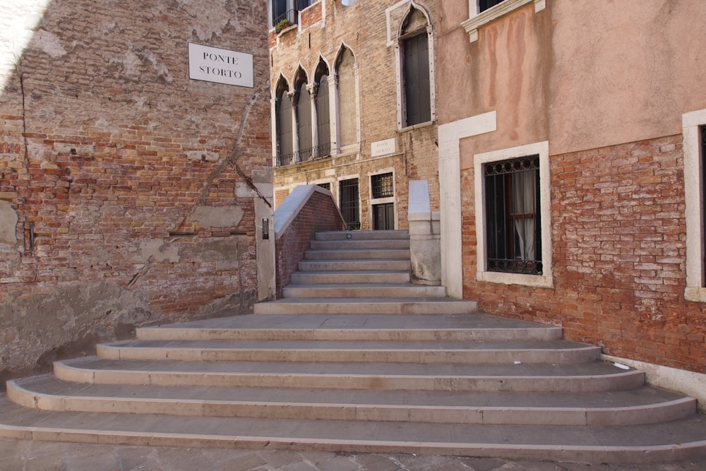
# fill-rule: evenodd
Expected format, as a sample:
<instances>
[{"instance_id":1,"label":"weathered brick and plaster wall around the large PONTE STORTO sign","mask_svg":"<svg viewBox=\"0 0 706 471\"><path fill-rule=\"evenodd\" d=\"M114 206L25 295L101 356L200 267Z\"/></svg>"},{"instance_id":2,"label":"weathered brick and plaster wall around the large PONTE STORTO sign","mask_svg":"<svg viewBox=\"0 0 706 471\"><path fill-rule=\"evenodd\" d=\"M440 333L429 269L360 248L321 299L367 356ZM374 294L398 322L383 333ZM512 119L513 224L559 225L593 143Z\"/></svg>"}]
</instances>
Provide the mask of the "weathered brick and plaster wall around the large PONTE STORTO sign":
<instances>
[{"instance_id":1,"label":"weathered brick and plaster wall around the large PONTE STORTO sign","mask_svg":"<svg viewBox=\"0 0 706 471\"><path fill-rule=\"evenodd\" d=\"M12 3L0 378L145 323L249 311L272 212L266 3ZM190 80L189 42L253 54L255 87Z\"/></svg>"}]
</instances>

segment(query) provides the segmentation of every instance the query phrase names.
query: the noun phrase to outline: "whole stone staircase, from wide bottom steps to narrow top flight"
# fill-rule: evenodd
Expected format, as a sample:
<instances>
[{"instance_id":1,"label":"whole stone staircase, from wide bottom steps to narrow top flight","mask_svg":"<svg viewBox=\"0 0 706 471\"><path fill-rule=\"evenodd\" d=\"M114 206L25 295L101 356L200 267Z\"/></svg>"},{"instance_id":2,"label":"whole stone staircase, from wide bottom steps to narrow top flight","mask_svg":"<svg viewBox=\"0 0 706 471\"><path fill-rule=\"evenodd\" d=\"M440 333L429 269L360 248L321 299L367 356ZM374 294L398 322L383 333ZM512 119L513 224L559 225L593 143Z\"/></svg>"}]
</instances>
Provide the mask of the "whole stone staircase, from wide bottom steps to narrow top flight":
<instances>
[{"instance_id":1,"label":"whole stone staircase, from wide bottom steps to narrow top flight","mask_svg":"<svg viewBox=\"0 0 706 471\"><path fill-rule=\"evenodd\" d=\"M255 314L140 328L8 382L19 439L586 463L706 455L696 401L561 328L409 281L405 232L318 234Z\"/></svg>"}]
</instances>

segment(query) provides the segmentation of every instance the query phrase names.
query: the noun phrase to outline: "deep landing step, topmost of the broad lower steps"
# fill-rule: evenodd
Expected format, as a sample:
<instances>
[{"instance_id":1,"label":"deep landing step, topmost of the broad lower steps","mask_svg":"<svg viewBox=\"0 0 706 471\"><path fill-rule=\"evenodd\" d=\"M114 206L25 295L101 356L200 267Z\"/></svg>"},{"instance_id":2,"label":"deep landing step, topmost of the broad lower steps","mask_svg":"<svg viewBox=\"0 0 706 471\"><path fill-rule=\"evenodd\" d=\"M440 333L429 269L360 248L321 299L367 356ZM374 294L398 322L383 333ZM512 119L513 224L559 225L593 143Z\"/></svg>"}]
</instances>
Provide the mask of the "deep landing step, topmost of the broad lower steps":
<instances>
[{"instance_id":1,"label":"deep landing step, topmost of the broad lower steps","mask_svg":"<svg viewBox=\"0 0 706 471\"><path fill-rule=\"evenodd\" d=\"M203 319L136 330L142 340L558 340L560 327L487 314L270 314Z\"/></svg>"}]
</instances>

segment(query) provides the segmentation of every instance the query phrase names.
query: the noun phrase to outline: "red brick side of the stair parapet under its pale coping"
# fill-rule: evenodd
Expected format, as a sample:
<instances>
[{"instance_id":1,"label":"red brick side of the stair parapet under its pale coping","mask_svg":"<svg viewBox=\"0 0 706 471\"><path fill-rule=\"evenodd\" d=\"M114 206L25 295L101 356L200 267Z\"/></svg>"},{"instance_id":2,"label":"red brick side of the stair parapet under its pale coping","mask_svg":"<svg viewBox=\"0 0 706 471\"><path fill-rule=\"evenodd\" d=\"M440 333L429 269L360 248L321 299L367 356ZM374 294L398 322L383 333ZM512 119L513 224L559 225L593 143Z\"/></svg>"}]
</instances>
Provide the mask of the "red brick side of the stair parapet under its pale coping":
<instances>
[{"instance_id":1,"label":"red brick side of the stair parapet under its pale coping","mask_svg":"<svg viewBox=\"0 0 706 471\"><path fill-rule=\"evenodd\" d=\"M285 233L281 236L277 234L275 263L278 298L282 296L282 287L289 283L289 275L297 271L297 263L304 258L304 251L309 249L314 234L342 229L345 229L345 224L333 199L314 191Z\"/></svg>"}]
</instances>

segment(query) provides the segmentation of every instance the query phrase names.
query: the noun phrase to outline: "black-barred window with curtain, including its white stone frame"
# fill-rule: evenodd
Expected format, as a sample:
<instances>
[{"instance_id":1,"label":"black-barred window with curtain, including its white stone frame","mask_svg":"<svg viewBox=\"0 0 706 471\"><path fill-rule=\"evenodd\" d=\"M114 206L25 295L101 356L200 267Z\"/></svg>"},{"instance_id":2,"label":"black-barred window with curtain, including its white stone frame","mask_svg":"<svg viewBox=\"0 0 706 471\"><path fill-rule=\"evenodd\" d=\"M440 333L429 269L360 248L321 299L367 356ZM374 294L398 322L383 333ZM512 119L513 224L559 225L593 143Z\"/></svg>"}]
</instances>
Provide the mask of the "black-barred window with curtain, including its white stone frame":
<instances>
[{"instance_id":1,"label":"black-barred window with curtain, including its white stone frame","mask_svg":"<svg viewBox=\"0 0 706 471\"><path fill-rule=\"evenodd\" d=\"M554 286L549 143L473 156L481 282Z\"/></svg>"}]
</instances>

